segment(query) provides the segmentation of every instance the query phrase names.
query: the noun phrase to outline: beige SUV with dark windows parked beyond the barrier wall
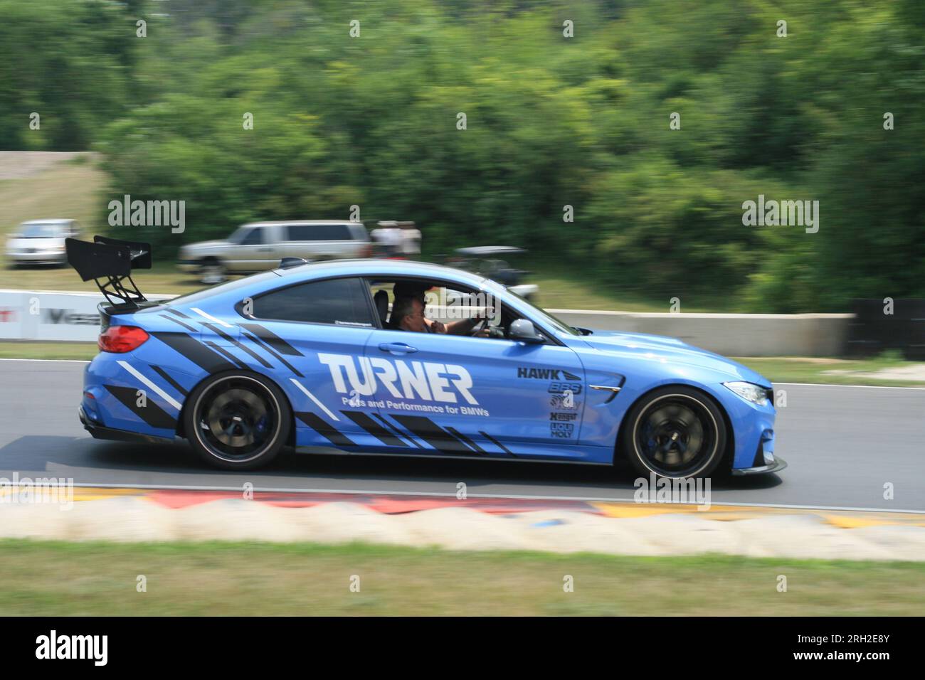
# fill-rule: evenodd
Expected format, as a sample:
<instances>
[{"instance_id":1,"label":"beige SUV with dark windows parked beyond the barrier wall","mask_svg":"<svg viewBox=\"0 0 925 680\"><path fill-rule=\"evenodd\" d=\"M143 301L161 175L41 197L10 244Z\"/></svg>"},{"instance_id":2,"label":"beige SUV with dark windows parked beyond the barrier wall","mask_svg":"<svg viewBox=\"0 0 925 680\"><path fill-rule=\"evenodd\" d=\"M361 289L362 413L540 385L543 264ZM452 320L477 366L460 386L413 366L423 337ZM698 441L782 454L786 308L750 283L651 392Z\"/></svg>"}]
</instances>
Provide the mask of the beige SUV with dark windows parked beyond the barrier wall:
<instances>
[{"instance_id":1,"label":"beige SUV with dark windows parked beyond the barrier wall","mask_svg":"<svg viewBox=\"0 0 925 680\"><path fill-rule=\"evenodd\" d=\"M285 257L309 261L369 257L372 242L361 222L310 219L254 222L239 227L226 241L203 241L180 248L181 271L217 283L227 274L250 274L279 266Z\"/></svg>"}]
</instances>

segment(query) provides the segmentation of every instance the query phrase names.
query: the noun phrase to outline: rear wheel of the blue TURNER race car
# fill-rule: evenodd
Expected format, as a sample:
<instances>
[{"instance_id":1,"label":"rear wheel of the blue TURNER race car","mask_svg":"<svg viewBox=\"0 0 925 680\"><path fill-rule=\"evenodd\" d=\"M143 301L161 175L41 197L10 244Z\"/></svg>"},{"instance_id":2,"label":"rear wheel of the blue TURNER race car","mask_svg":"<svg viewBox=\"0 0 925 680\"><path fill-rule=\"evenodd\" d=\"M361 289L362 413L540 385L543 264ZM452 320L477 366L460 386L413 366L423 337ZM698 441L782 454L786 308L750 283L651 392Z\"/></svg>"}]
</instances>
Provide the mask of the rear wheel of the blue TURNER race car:
<instances>
[{"instance_id":1,"label":"rear wheel of the blue TURNER race car","mask_svg":"<svg viewBox=\"0 0 925 680\"><path fill-rule=\"evenodd\" d=\"M292 413L265 377L225 373L193 389L183 427L192 448L225 470L252 470L272 461L289 439Z\"/></svg>"}]
</instances>

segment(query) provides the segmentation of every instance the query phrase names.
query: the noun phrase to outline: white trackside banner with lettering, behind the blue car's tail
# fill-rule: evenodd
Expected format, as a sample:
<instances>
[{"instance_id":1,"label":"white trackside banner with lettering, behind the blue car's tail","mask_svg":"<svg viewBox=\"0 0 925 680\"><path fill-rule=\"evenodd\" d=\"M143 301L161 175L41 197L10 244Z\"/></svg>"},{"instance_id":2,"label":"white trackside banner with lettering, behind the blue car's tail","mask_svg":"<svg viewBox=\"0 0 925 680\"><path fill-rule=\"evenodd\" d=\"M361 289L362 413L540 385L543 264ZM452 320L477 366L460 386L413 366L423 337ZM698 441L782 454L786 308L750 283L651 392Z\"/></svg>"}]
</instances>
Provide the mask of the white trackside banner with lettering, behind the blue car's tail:
<instances>
[{"instance_id":1,"label":"white trackside banner with lettering, behind the blue car's tail","mask_svg":"<svg viewBox=\"0 0 925 680\"><path fill-rule=\"evenodd\" d=\"M165 300L173 295L150 295ZM96 340L99 293L0 289L0 340Z\"/></svg>"}]
</instances>

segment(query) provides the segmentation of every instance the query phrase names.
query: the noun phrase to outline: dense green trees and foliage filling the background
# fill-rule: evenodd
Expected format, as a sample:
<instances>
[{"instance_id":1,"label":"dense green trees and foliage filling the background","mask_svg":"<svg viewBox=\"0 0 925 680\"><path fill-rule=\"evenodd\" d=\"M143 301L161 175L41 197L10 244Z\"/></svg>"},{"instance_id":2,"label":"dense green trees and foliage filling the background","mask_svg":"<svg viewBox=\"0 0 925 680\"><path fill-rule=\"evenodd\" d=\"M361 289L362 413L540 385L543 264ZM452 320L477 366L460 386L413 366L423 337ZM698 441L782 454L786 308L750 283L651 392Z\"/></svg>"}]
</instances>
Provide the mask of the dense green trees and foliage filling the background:
<instances>
[{"instance_id":1,"label":"dense green trees and foliage filling the background","mask_svg":"<svg viewBox=\"0 0 925 680\"><path fill-rule=\"evenodd\" d=\"M358 204L430 252L522 244L651 298L839 311L925 295L922 7L0 0L0 143L96 142L106 201L186 201L182 235L116 229L168 252ZM759 194L818 200L818 233L744 226Z\"/></svg>"}]
</instances>

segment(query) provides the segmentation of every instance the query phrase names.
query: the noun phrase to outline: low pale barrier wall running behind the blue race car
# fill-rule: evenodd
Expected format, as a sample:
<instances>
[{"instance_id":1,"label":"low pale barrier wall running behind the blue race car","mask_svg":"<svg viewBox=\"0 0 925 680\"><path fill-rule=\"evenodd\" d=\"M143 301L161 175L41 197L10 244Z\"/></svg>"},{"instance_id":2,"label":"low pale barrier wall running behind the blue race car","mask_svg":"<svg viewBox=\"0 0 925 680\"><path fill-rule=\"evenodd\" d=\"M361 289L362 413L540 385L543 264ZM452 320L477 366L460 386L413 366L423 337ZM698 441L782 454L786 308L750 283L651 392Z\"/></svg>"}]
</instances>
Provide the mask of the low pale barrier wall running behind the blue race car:
<instances>
[{"instance_id":1,"label":"low pale barrier wall running behind the blue race car","mask_svg":"<svg viewBox=\"0 0 925 680\"><path fill-rule=\"evenodd\" d=\"M151 295L163 300L171 295ZM83 340L99 335L99 293L0 289L0 340ZM850 314L656 314L553 309L573 326L679 338L729 356L837 356Z\"/></svg>"}]
</instances>

